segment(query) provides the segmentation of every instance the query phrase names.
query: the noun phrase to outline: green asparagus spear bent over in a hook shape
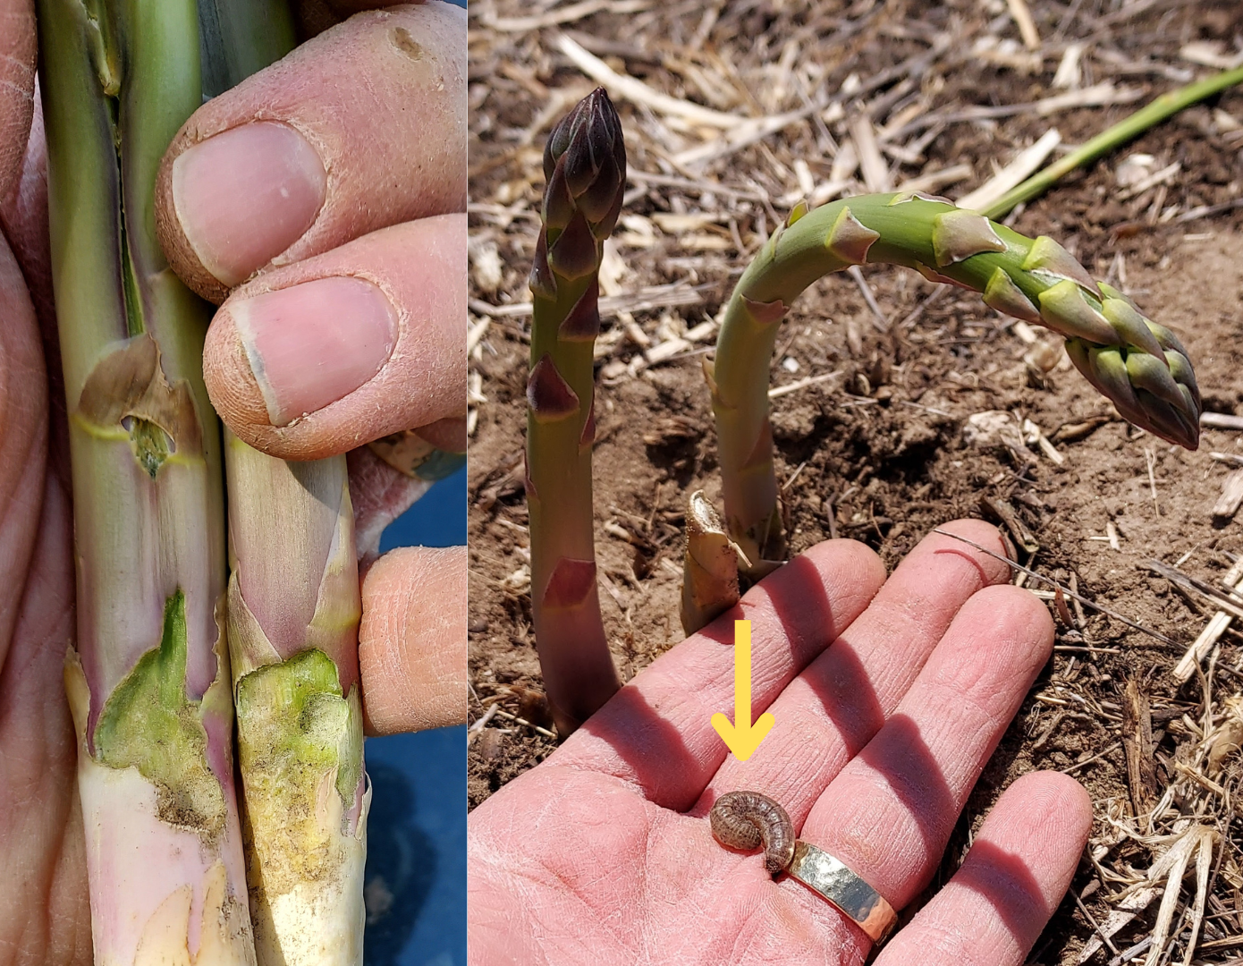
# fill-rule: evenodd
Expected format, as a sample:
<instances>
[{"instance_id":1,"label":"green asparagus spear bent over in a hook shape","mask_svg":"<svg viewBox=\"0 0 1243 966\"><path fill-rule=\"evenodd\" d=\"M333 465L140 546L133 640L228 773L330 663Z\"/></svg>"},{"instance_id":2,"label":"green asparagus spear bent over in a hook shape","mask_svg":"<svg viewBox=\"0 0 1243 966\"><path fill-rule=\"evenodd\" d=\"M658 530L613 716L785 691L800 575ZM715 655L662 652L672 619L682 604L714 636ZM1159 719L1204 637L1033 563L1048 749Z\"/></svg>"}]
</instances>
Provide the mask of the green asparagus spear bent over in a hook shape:
<instances>
[{"instance_id":1,"label":"green asparagus spear bent over in a hook shape","mask_svg":"<svg viewBox=\"0 0 1243 966\"><path fill-rule=\"evenodd\" d=\"M752 561L779 559L768 368L778 323L808 285L851 265L905 265L983 293L1006 315L1066 338L1080 373L1119 413L1195 449L1199 390L1187 352L1121 292L1091 277L1050 237L1028 239L983 215L919 194L799 205L768 239L730 298L705 367L720 441L728 531Z\"/></svg>"}]
</instances>

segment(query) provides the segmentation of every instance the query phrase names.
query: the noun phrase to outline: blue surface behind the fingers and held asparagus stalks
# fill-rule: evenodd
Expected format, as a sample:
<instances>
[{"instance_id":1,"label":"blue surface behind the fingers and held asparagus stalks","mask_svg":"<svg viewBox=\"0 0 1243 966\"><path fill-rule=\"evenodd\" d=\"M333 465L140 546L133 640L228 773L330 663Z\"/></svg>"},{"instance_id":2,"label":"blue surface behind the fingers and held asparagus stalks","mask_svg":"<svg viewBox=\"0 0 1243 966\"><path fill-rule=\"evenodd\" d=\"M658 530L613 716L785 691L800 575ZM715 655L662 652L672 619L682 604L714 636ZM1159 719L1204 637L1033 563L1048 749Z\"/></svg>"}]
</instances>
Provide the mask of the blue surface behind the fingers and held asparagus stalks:
<instances>
[{"instance_id":1,"label":"blue surface behind the fingers and held asparagus stalks","mask_svg":"<svg viewBox=\"0 0 1243 966\"><path fill-rule=\"evenodd\" d=\"M466 542L466 470L433 486L380 550ZM368 738L367 966L465 966L466 726ZM379 903L377 899L379 898ZM388 906L384 915L375 915Z\"/></svg>"}]
</instances>

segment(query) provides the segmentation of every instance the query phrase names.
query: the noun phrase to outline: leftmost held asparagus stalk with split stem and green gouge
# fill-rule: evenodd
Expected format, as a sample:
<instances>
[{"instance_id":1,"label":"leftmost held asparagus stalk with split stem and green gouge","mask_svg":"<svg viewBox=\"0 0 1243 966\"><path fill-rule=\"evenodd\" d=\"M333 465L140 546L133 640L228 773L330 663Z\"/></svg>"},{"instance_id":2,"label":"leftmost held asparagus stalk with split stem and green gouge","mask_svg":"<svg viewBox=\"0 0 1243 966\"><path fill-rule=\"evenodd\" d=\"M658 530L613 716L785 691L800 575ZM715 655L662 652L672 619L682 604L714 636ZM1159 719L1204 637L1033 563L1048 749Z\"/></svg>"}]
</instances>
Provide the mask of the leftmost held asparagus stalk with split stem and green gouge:
<instances>
[{"instance_id":1,"label":"leftmost held asparagus stalk with split stem and green gouge","mask_svg":"<svg viewBox=\"0 0 1243 966\"><path fill-rule=\"evenodd\" d=\"M194 0L39 0L73 475L78 736L94 962L254 964L224 639L208 306L155 240L200 99Z\"/></svg>"}]
</instances>

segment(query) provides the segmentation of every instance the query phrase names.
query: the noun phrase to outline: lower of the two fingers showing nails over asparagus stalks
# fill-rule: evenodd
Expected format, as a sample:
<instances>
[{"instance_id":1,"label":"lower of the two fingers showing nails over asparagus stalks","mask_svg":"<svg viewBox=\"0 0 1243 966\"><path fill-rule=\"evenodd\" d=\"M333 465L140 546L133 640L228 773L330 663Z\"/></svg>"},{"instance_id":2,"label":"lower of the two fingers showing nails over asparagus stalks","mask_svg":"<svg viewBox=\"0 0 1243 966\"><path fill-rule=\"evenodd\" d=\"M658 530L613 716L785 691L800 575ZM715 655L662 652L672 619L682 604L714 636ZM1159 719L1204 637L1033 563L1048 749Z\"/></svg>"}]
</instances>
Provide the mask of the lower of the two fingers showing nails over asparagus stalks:
<instances>
[{"instance_id":1,"label":"lower of the two fingers showing nails over asparagus stalks","mask_svg":"<svg viewBox=\"0 0 1243 966\"><path fill-rule=\"evenodd\" d=\"M466 216L374 231L266 272L216 313L203 375L246 444L287 460L466 413Z\"/></svg>"}]
</instances>

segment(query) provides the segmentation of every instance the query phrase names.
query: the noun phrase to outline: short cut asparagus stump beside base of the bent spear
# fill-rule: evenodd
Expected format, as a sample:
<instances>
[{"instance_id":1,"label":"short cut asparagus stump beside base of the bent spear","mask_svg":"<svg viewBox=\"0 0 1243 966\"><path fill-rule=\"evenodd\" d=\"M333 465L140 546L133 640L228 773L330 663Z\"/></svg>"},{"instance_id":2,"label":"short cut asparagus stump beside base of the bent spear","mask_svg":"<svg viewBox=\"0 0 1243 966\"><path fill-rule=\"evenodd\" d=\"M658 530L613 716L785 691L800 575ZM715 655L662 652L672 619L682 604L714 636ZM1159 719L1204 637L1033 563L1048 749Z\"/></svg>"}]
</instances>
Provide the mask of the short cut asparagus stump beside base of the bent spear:
<instances>
[{"instance_id":1,"label":"short cut asparagus stump beside base of the bent spear","mask_svg":"<svg viewBox=\"0 0 1243 966\"><path fill-rule=\"evenodd\" d=\"M721 515L704 496L691 494L686 506L686 552L682 556L682 630L694 634L738 603L738 546ZM745 566L751 561L743 558Z\"/></svg>"}]
</instances>

